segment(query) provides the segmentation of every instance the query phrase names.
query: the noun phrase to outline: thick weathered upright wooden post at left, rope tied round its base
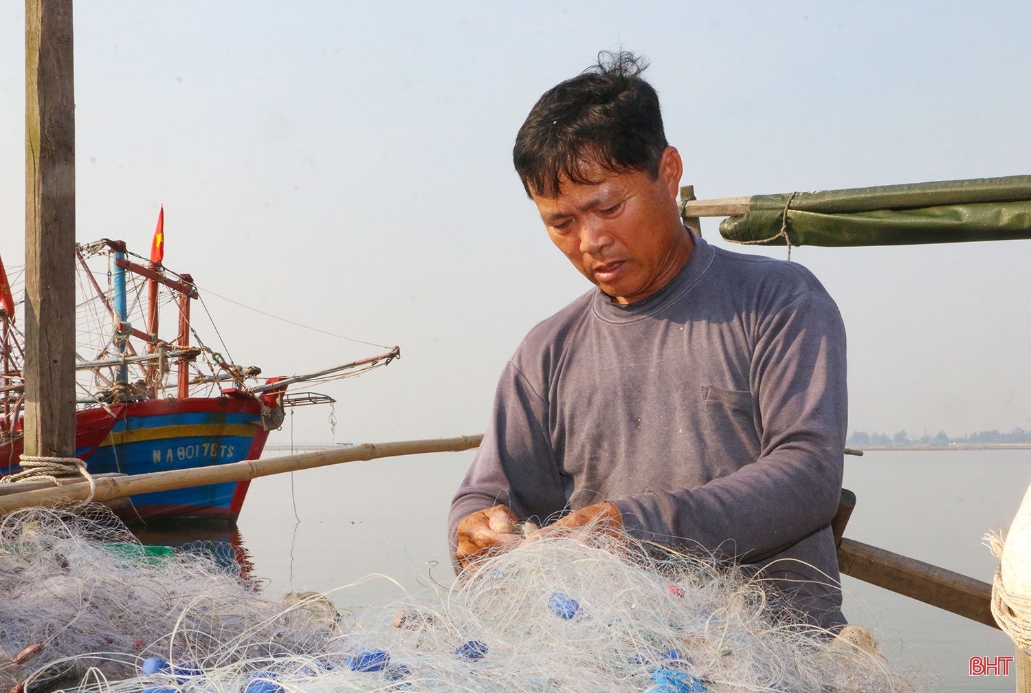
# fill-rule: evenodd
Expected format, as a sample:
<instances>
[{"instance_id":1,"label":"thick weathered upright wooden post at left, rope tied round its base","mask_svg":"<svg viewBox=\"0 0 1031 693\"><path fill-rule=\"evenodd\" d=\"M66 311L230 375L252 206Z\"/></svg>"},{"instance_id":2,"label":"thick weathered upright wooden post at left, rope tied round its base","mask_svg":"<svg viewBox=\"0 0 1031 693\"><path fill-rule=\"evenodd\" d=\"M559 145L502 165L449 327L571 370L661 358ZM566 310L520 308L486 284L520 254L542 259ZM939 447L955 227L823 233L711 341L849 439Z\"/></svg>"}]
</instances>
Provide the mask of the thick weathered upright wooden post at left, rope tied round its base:
<instances>
[{"instance_id":1,"label":"thick weathered upright wooden post at left, rope tied round its base","mask_svg":"<svg viewBox=\"0 0 1031 693\"><path fill-rule=\"evenodd\" d=\"M25 2L25 454L75 446L71 0Z\"/></svg>"}]
</instances>

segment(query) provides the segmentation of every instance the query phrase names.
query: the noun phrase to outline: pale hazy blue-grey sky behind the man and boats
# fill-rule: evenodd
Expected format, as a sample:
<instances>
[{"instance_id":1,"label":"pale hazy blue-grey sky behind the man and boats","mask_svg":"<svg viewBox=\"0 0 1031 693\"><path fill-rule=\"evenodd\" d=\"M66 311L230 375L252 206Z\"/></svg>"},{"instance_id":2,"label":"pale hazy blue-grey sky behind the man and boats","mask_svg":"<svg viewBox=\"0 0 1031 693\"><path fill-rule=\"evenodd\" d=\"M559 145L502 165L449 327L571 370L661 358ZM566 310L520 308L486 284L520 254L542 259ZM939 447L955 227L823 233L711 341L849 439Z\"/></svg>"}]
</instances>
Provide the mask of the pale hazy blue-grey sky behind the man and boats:
<instances>
[{"instance_id":1,"label":"pale hazy blue-grey sky behind the man and boats","mask_svg":"<svg viewBox=\"0 0 1031 693\"><path fill-rule=\"evenodd\" d=\"M23 11L0 3L8 265L24 262ZM477 433L526 331L590 288L512 172L541 92L598 51L646 56L700 198L1029 173L1029 26L1016 0L80 0L76 235L145 254L163 203L165 264L202 292L401 345L321 387L335 436L306 407L297 441ZM844 317L850 430L1031 428L1031 241L793 260ZM231 356L265 374L380 351L205 300Z\"/></svg>"}]
</instances>

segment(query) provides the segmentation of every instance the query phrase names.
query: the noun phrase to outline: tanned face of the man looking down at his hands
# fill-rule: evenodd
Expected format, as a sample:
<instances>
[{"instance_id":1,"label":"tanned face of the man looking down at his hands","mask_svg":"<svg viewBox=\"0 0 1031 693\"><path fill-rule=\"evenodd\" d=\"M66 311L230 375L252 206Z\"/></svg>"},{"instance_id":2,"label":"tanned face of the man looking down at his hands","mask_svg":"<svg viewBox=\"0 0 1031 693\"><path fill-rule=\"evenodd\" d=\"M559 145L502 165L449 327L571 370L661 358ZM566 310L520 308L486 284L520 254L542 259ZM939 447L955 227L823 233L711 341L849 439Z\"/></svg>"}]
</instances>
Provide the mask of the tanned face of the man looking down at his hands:
<instances>
[{"instance_id":1,"label":"tanned face of the man looking down at his hands","mask_svg":"<svg viewBox=\"0 0 1031 693\"><path fill-rule=\"evenodd\" d=\"M676 210L679 154L666 147L655 180L597 164L583 172L595 183L563 176L557 197L532 194L552 242L617 302L647 298L676 275L693 248Z\"/></svg>"}]
</instances>

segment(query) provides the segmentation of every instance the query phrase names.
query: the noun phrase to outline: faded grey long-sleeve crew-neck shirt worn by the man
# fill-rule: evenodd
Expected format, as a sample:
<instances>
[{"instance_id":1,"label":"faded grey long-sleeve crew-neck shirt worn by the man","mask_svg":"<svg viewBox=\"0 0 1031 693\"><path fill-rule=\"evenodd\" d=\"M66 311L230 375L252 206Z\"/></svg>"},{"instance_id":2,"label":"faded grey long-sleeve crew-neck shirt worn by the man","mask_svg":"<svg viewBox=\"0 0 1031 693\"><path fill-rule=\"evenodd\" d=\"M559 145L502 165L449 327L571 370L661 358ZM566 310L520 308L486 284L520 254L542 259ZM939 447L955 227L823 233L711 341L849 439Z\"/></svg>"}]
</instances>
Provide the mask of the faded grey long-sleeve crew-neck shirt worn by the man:
<instances>
[{"instance_id":1,"label":"faded grey long-sleeve crew-neck shirt worn by the man","mask_svg":"<svg viewBox=\"0 0 1031 693\"><path fill-rule=\"evenodd\" d=\"M766 566L789 606L843 623L837 306L797 264L695 243L651 297L591 291L531 330L452 503L452 541L497 503L546 521L609 500L631 534Z\"/></svg>"}]
</instances>

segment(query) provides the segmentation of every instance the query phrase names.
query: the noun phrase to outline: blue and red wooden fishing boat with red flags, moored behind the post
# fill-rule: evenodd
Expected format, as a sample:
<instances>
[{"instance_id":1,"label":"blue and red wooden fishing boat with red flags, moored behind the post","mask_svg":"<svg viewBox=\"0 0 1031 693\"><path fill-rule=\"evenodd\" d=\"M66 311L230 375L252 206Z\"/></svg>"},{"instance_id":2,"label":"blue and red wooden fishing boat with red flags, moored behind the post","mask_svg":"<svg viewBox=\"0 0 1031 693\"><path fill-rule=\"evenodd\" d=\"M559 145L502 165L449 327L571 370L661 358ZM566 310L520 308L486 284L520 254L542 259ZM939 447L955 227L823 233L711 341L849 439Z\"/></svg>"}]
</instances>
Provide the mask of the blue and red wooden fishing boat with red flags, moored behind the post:
<instances>
[{"instance_id":1,"label":"blue and red wooden fishing boat with red flags, moored behind the post","mask_svg":"<svg viewBox=\"0 0 1031 693\"><path fill-rule=\"evenodd\" d=\"M260 368L234 364L201 340L191 322L192 302L200 298L193 277L166 268L163 257L163 212L149 260L129 252L121 240L76 245L75 457L91 474L131 475L258 459L269 432L282 423L286 407L333 401L307 392L288 395L291 385L356 375L400 355L395 346L318 372L260 381ZM162 308L175 314L167 338L159 336ZM24 337L15 312L13 299L5 300L0 308L0 475L23 471ZM235 522L248 484L135 495L118 512L137 521L190 517Z\"/></svg>"}]
</instances>

